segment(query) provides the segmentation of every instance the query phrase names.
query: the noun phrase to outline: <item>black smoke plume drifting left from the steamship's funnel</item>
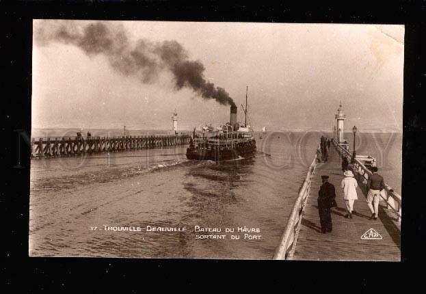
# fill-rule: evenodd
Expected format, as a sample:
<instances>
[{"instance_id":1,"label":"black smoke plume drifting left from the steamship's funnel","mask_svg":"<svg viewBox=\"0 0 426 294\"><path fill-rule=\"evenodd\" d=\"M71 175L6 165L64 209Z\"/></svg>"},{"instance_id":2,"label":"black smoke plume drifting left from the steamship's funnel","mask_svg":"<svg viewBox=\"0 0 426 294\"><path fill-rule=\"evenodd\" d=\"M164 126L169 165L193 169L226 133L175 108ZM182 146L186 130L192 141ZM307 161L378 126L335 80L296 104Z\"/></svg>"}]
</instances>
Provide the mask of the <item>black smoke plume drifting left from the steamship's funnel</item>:
<instances>
[{"instance_id":1,"label":"black smoke plume drifting left from the steamship's funnel","mask_svg":"<svg viewBox=\"0 0 426 294\"><path fill-rule=\"evenodd\" d=\"M131 44L123 27L103 22L81 26L66 21L44 21L34 27L34 40L41 46L62 42L79 47L89 56L105 55L115 70L138 77L143 83L155 81L161 71L168 70L176 90L190 88L202 98L235 106L226 90L204 78L203 64L189 60L187 51L174 40L141 39Z\"/></svg>"}]
</instances>

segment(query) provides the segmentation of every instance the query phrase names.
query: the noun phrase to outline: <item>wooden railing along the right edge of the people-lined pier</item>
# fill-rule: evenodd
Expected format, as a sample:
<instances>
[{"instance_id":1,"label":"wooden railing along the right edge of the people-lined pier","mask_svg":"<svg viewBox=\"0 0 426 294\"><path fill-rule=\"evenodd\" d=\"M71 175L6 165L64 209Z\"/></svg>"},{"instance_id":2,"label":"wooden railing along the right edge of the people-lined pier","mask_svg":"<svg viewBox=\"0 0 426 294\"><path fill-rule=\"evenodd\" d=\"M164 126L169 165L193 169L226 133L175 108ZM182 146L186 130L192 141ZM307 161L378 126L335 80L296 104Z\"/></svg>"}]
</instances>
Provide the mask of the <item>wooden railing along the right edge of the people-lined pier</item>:
<instances>
[{"instance_id":1,"label":"wooden railing along the right edge of the people-lined pier","mask_svg":"<svg viewBox=\"0 0 426 294\"><path fill-rule=\"evenodd\" d=\"M338 152L341 154L342 157L346 157L348 162L352 162L352 155L349 150L344 148L343 146L340 146L335 140L333 140L334 146L336 146ZM365 167L365 165L358 159L354 159L353 161L354 165L354 172L356 172L356 176L358 176L358 181L361 181L362 183L367 183L369 180L369 176L371 176L373 173ZM401 196L395 192L392 187L387 185L385 183L385 189L384 193L380 193L380 196L382 199L386 202L387 208L392 210L398 217L398 222L401 222L402 217L402 201ZM383 195L384 194L384 195Z\"/></svg>"}]
</instances>

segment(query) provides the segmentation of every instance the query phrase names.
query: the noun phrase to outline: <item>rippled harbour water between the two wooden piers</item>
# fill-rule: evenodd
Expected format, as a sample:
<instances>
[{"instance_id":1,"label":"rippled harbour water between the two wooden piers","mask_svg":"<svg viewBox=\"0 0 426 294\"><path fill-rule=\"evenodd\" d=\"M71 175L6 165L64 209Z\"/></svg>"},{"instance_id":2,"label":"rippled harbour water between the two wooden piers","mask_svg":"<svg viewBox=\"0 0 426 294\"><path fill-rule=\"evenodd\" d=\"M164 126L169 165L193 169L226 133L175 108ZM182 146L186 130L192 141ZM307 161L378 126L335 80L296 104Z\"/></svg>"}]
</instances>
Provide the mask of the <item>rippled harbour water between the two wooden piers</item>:
<instances>
[{"instance_id":1,"label":"rippled harbour water between the two wooden piers","mask_svg":"<svg viewBox=\"0 0 426 294\"><path fill-rule=\"evenodd\" d=\"M30 254L271 258L319 136L295 146L291 136L272 133L257 140L256 157L222 163L189 161L185 147L33 159ZM103 225L189 232L90 231ZM262 237L200 240L196 225L260 228Z\"/></svg>"}]
</instances>

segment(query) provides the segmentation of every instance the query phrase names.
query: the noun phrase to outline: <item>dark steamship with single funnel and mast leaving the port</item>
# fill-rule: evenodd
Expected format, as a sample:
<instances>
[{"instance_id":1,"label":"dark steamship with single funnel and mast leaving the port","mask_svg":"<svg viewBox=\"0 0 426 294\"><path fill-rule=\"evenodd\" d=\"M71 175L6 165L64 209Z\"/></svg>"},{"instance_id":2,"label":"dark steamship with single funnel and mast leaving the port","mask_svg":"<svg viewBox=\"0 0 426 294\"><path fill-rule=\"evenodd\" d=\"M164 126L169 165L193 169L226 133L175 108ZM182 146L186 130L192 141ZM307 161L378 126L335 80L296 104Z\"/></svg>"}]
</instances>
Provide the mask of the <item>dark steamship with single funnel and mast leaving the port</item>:
<instances>
[{"instance_id":1,"label":"dark steamship with single funnel and mast leaving the port","mask_svg":"<svg viewBox=\"0 0 426 294\"><path fill-rule=\"evenodd\" d=\"M202 134L196 133L194 129L187 148L187 159L224 161L252 157L256 153L256 140L247 124L247 93L243 111L243 126L237 122L237 106L232 105L230 122L222 128L203 128Z\"/></svg>"}]
</instances>

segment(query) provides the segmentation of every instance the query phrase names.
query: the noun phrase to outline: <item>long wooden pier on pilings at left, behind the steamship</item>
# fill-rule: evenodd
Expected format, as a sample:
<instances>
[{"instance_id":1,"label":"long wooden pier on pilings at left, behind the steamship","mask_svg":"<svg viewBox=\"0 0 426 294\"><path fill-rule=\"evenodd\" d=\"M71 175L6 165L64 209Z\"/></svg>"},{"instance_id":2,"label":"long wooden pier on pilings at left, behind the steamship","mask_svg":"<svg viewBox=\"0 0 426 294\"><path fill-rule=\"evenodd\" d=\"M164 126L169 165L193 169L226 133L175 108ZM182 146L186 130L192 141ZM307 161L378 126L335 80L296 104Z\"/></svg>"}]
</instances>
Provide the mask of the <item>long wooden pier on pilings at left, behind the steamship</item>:
<instances>
[{"instance_id":1,"label":"long wooden pier on pilings at left, behind the steamship","mask_svg":"<svg viewBox=\"0 0 426 294\"><path fill-rule=\"evenodd\" d=\"M189 135L146 135L122 137L40 137L31 139L31 157L57 157L83 153L187 145Z\"/></svg>"}]
</instances>

